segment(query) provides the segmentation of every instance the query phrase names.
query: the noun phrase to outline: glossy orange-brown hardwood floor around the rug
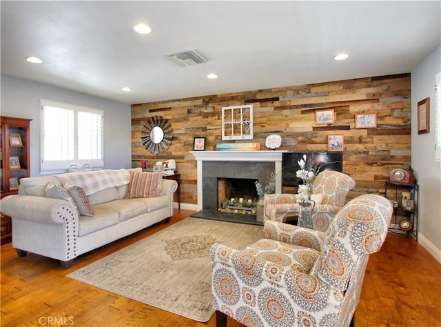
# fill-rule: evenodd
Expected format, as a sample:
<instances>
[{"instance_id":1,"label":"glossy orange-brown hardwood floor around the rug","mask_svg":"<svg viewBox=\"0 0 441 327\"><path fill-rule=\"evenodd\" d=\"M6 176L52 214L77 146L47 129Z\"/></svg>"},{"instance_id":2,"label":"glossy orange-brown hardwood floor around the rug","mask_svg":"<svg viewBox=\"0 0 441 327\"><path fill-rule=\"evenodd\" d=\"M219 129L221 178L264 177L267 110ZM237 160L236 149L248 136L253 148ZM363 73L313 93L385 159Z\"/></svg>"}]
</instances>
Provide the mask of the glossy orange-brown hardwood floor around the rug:
<instances>
[{"instance_id":1,"label":"glossy orange-brown hardwood floor around the rug","mask_svg":"<svg viewBox=\"0 0 441 327\"><path fill-rule=\"evenodd\" d=\"M214 315L199 323L65 277L191 213L175 210L170 222L88 252L68 270L32 253L19 258L12 244L1 246L1 326L216 326ZM355 322L356 327L441 326L441 264L414 239L389 232L369 259ZM228 319L228 326L242 325Z\"/></svg>"}]
</instances>

